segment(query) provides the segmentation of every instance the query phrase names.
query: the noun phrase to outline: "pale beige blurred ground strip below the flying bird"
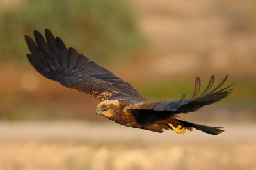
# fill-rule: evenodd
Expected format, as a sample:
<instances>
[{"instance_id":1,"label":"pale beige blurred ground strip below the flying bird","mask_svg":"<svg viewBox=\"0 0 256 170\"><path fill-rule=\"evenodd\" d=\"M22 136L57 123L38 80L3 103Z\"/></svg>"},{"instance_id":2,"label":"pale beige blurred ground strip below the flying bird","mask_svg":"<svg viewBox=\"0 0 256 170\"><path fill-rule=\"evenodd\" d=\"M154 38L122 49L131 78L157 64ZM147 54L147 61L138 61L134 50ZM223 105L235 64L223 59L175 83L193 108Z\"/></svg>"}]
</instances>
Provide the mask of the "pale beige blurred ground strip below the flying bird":
<instances>
[{"instance_id":1,"label":"pale beige blurred ground strip below the flying bird","mask_svg":"<svg viewBox=\"0 0 256 170\"><path fill-rule=\"evenodd\" d=\"M218 125L225 132L212 136L116 123L2 122L0 169L256 169L255 123Z\"/></svg>"}]
</instances>

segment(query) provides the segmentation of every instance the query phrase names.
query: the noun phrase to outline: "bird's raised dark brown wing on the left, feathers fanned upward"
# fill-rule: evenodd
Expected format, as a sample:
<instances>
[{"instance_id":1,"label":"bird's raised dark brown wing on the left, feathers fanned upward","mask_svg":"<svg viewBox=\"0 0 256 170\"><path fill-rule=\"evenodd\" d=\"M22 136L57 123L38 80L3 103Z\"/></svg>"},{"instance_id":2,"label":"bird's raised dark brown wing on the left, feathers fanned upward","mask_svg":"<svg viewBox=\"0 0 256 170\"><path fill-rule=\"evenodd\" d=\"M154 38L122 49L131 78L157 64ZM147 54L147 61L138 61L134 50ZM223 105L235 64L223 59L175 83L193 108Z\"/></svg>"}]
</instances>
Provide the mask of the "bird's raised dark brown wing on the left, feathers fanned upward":
<instances>
[{"instance_id":1,"label":"bird's raised dark brown wing on the left, feathers fanned upward","mask_svg":"<svg viewBox=\"0 0 256 170\"><path fill-rule=\"evenodd\" d=\"M67 88L77 89L100 101L116 98L132 98L147 101L131 84L116 77L97 63L70 47L45 29L45 37L34 31L35 41L25 35L31 54L27 57L34 68L44 77L60 82Z\"/></svg>"}]
</instances>

